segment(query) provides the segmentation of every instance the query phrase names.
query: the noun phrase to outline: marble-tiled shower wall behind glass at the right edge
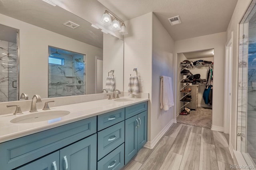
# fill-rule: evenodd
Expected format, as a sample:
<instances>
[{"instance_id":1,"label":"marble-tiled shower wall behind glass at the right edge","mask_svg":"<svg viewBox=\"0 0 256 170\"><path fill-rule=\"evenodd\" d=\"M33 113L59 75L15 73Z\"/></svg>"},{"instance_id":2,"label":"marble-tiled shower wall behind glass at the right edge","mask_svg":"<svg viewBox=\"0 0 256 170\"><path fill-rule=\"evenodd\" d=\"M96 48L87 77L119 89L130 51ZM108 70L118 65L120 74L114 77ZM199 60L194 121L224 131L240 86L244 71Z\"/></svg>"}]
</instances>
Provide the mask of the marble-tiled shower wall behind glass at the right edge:
<instances>
[{"instance_id":1,"label":"marble-tiled shower wall behind glass at the right edge","mask_svg":"<svg viewBox=\"0 0 256 170\"><path fill-rule=\"evenodd\" d=\"M256 162L256 6L249 6L239 31L237 150ZM246 140L241 140L241 137Z\"/></svg>"}]
</instances>

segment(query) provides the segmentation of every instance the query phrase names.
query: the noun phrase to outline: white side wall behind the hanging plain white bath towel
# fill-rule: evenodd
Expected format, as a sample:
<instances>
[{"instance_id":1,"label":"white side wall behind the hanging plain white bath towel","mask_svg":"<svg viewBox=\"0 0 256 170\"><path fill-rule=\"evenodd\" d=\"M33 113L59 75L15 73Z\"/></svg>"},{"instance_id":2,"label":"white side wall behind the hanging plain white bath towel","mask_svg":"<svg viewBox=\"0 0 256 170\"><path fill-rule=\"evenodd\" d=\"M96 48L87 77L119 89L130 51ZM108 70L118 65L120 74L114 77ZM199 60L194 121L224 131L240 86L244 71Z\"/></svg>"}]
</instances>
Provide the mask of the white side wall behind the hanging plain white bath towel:
<instances>
[{"instance_id":1,"label":"white side wall behind the hanging plain white bath towel","mask_svg":"<svg viewBox=\"0 0 256 170\"><path fill-rule=\"evenodd\" d=\"M169 76L173 79L173 51L174 41L164 26L153 14L153 56L152 56L152 107L151 107L151 135L153 141L157 135L173 119L173 108L168 111L160 109L160 76ZM175 89L172 89L175 90ZM176 103L174 103L176 105Z\"/></svg>"}]
</instances>

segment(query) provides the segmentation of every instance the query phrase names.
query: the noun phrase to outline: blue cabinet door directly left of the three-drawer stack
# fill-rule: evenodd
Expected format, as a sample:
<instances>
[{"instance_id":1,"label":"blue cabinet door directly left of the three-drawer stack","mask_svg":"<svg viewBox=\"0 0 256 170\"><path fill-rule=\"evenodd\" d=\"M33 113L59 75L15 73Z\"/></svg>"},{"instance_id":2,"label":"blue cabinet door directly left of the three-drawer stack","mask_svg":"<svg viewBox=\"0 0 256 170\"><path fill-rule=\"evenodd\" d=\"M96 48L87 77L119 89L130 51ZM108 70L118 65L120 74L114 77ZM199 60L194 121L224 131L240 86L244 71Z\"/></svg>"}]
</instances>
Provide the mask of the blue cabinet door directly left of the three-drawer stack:
<instances>
[{"instance_id":1,"label":"blue cabinet door directly left of the three-drawer stack","mask_svg":"<svg viewBox=\"0 0 256 170\"><path fill-rule=\"evenodd\" d=\"M60 170L96 170L97 135L60 150Z\"/></svg>"}]
</instances>

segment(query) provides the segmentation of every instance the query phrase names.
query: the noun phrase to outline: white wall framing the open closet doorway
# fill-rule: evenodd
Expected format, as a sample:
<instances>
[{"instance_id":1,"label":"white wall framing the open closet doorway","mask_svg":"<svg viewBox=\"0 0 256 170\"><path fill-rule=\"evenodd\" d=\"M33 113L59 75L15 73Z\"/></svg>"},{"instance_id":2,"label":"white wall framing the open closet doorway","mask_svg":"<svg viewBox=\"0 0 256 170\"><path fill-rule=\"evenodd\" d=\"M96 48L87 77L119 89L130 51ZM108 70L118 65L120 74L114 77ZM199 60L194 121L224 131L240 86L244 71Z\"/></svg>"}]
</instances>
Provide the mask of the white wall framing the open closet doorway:
<instances>
[{"instance_id":1,"label":"white wall framing the open closet doorway","mask_svg":"<svg viewBox=\"0 0 256 170\"><path fill-rule=\"evenodd\" d=\"M177 53L214 49L214 81L213 81L213 106L212 126L223 128L223 103L224 103L224 46L226 32L204 35L190 39L175 41L174 75L177 71ZM175 87L176 95L178 88ZM178 111L176 109L176 111Z\"/></svg>"}]
</instances>

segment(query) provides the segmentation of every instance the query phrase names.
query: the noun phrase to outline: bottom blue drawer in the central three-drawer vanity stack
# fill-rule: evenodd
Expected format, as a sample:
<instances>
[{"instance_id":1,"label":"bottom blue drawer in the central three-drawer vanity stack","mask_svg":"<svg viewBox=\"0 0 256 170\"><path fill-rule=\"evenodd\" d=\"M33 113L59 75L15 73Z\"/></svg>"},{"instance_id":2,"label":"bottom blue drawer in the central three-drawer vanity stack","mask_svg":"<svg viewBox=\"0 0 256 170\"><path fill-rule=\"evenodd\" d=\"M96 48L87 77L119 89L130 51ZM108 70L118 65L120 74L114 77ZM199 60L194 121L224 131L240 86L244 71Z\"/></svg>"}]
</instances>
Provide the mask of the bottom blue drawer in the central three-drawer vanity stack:
<instances>
[{"instance_id":1,"label":"bottom blue drawer in the central three-drawer vanity stack","mask_svg":"<svg viewBox=\"0 0 256 170\"><path fill-rule=\"evenodd\" d=\"M124 166L124 143L98 161L98 170L119 170Z\"/></svg>"}]
</instances>

